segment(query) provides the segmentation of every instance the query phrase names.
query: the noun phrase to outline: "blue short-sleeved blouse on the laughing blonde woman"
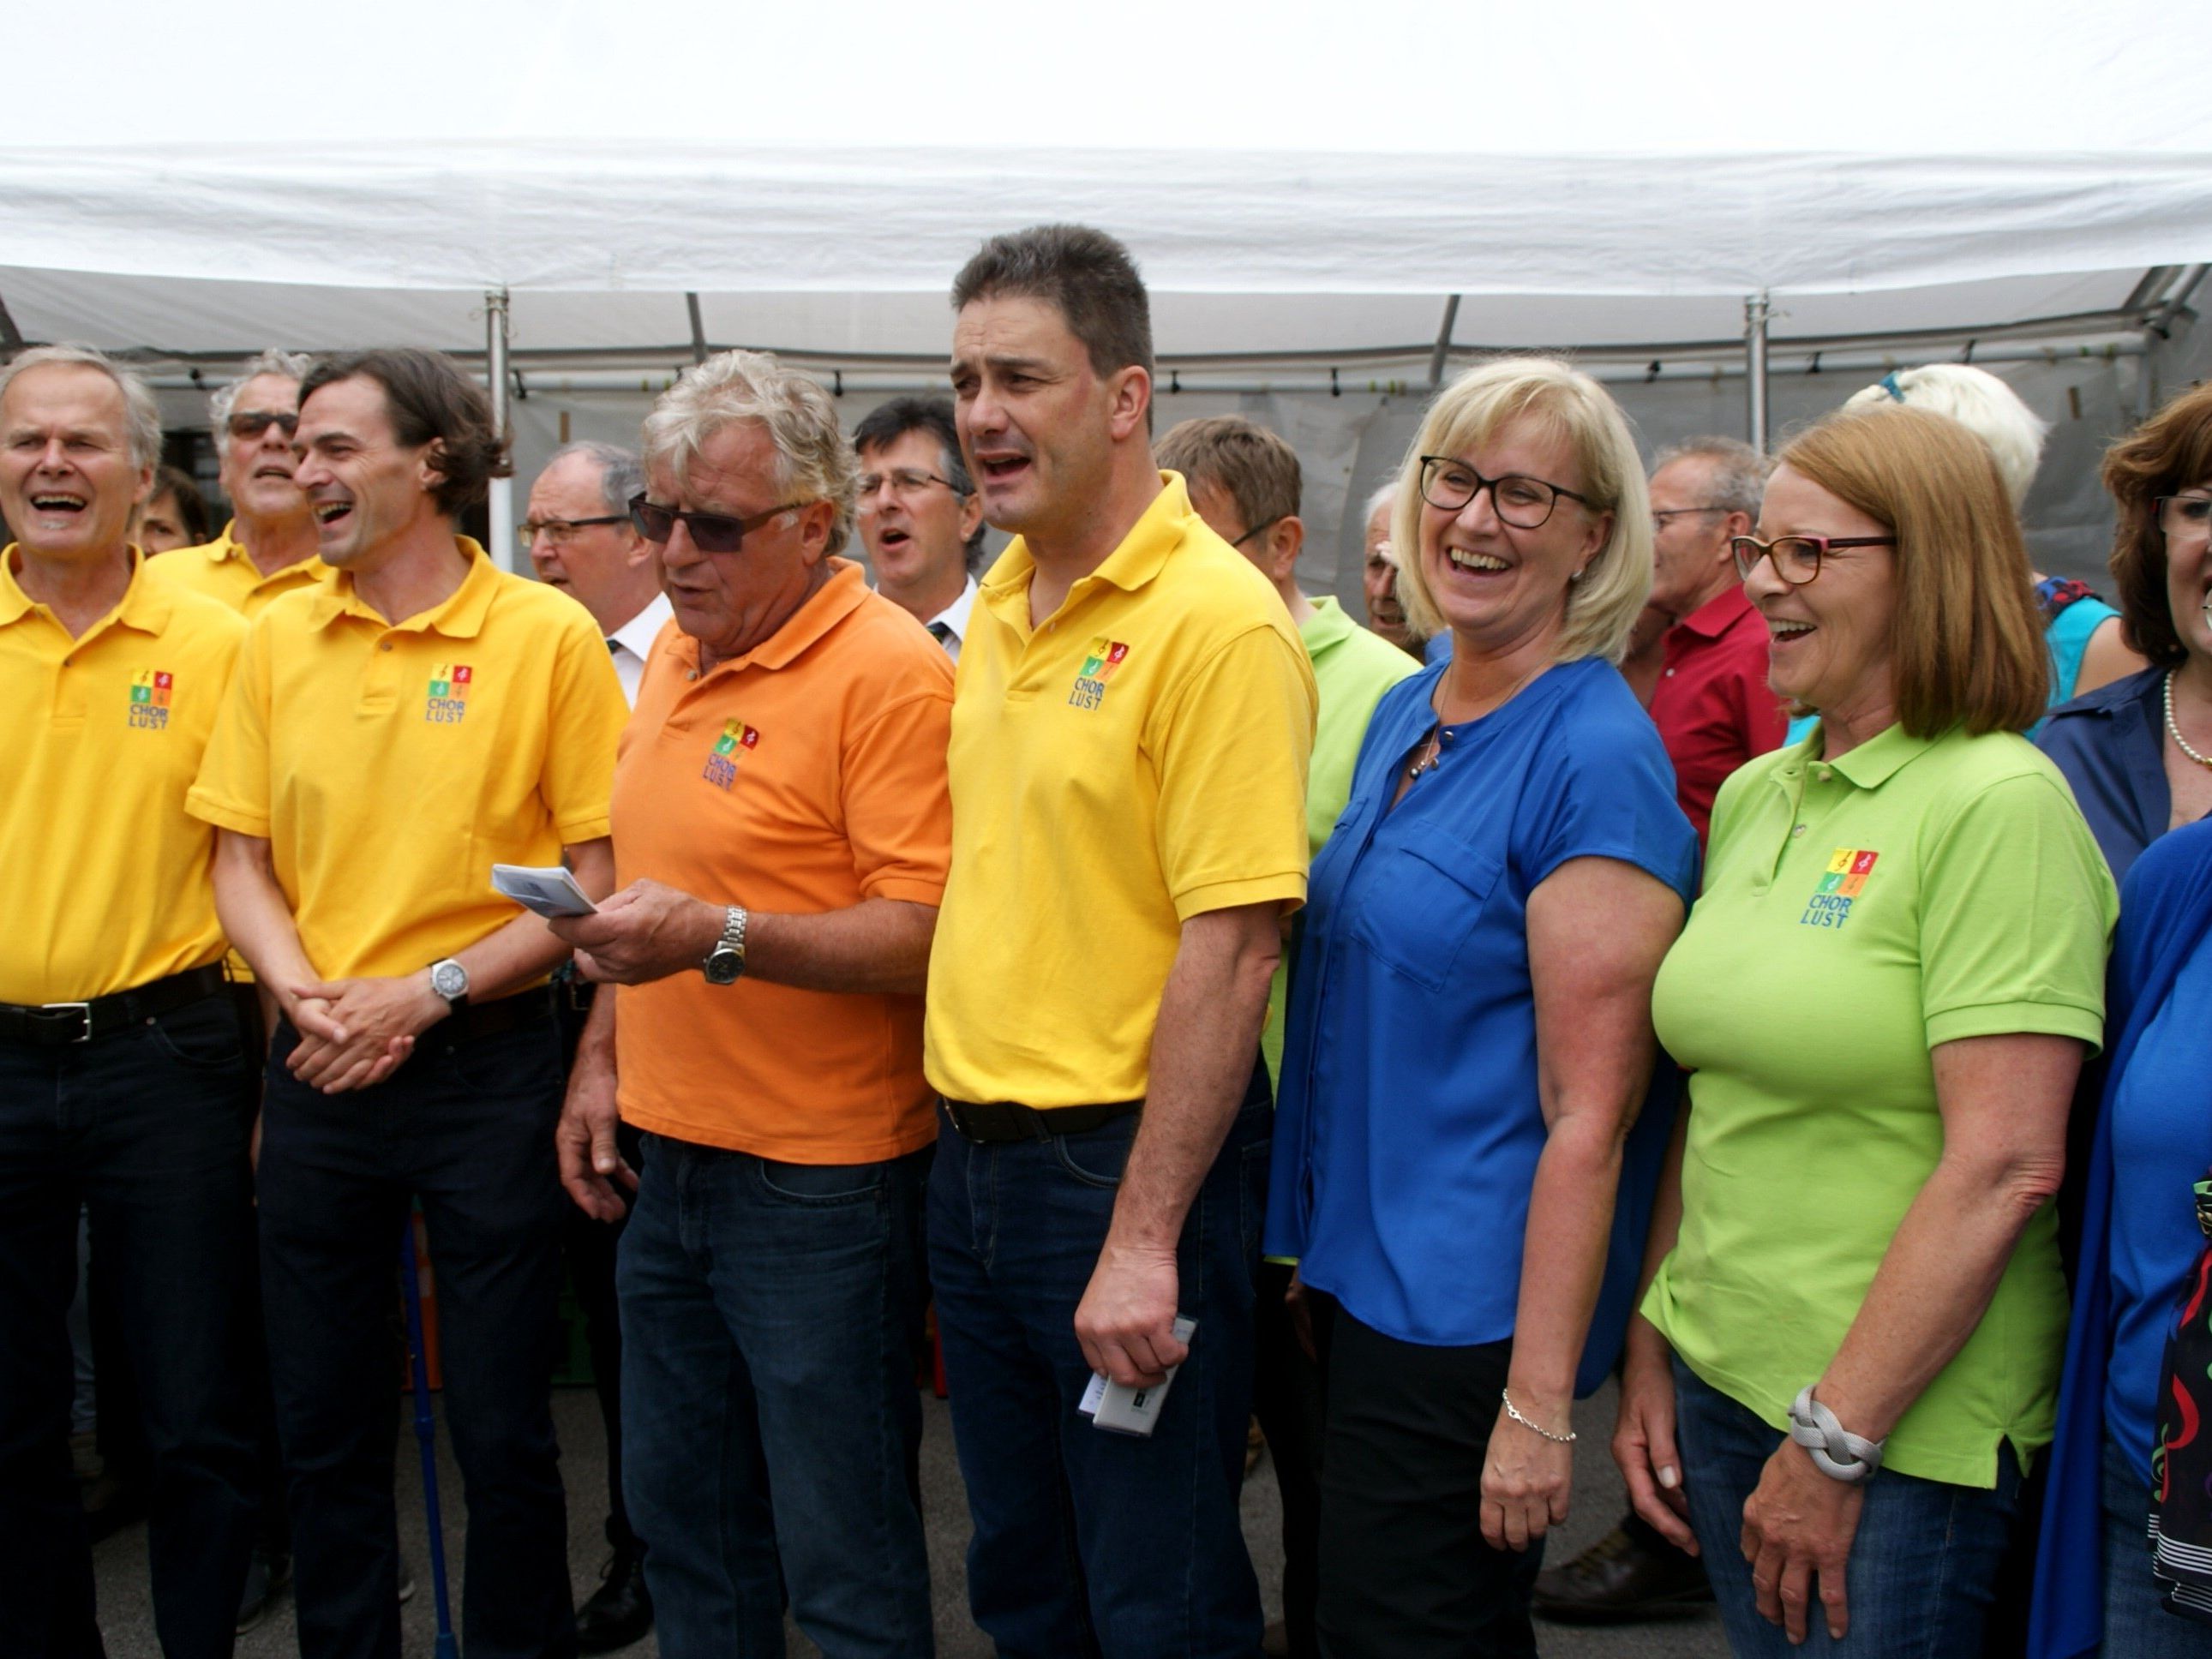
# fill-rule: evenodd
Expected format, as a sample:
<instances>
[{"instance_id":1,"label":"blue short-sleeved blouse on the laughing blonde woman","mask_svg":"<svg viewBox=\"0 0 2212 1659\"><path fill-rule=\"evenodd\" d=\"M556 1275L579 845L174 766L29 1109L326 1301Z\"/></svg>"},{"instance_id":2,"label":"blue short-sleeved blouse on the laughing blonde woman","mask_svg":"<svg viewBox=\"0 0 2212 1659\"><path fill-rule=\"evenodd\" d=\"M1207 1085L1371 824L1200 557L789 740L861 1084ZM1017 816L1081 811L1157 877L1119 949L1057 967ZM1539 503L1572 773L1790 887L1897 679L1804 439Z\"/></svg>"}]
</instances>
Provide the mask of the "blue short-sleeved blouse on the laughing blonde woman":
<instances>
[{"instance_id":1,"label":"blue short-sleeved blouse on the laughing blonde woman","mask_svg":"<svg viewBox=\"0 0 2212 1659\"><path fill-rule=\"evenodd\" d=\"M1619 858L1688 905L1697 832L1619 672L1559 664L1442 730L1442 668L1376 706L1352 801L1314 858L1290 980L1267 1254L1365 1325L1460 1347L1513 1334L1544 1150L1528 894L1568 858Z\"/></svg>"}]
</instances>

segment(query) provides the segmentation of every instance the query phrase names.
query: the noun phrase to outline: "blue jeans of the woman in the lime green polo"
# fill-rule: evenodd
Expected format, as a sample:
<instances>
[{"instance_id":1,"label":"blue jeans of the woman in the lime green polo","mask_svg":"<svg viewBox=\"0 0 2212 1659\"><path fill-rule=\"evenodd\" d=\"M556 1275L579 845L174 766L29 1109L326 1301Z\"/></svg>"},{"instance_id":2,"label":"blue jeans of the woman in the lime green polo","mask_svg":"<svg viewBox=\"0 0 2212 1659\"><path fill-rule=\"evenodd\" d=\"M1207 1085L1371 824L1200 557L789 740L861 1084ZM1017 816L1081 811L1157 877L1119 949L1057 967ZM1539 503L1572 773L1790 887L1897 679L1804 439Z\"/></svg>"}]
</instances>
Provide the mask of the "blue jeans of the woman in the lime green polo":
<instances>
[{"instance_id":1,"label":"blue jeans of the woman in the lime green polo","mask_svg":"<svg viewBox=\"0 0 2212 1659\"><path fill-rule=\"evenodd\" d=\"M1849 1635L1829 1639L1814 1586L1805 1646L1792 1648L1778 1624L1759 1617L1752 1564L1741 1548L1743 1504L1787 1436L1699 1380L1681 1360L1674 1360L1674 1411L1690 1528L1739 1659L1807 1652L1953 1659L1982 1650L1991 1586L2020 1502L2020 1464L2008 1447L1997 1453L1993 1491L1896 1469L1869 1480L1845 1568Z\"/></svg>"}]
</instances>

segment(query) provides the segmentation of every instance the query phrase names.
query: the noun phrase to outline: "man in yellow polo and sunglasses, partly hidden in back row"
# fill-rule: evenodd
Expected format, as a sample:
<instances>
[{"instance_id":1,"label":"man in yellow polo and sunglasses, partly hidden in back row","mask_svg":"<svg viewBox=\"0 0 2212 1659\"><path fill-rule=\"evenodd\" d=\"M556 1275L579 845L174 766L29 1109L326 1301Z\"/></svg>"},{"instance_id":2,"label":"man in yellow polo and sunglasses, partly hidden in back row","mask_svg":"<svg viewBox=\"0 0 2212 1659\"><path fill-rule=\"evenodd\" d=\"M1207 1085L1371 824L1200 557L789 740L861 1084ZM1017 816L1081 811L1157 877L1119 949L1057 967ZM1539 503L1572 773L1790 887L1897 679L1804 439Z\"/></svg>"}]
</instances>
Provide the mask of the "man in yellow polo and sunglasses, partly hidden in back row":
<instances>
[{"instance_id":1,"label":"man in yellow polo and sunglasses, partly hidden in back row","mask_svg":"<svg viewBox=\"0 0 2212 1659\"><path fill-rule=\"evenodd\" d=\"M303 374L301 352L270 347L208 398L217 478L232 518L212 542L179 546L177 557L146 566L150 575L257 617L279 593L330 573L314 553L314 513L292 480Z\"/></svg>"}]
</instances>

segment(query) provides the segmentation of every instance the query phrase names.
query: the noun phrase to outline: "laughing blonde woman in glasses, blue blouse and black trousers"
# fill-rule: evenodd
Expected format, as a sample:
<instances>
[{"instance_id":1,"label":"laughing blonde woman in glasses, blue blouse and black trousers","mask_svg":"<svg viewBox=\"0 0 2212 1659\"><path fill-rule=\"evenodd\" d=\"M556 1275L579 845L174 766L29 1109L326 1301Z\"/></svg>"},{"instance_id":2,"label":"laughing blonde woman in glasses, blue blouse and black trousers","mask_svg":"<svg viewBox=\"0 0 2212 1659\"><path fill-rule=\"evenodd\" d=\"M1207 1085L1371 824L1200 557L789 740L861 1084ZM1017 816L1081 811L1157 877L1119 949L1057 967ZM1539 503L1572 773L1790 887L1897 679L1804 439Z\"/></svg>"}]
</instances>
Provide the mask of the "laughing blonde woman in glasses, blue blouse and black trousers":
<instances>
[{"instance_id":1,"label":"laughing blonde woman in glasses, blue blouse and black trousers","mask_svg":"<svg viewBox=\"0 0 2212 1659\"><path fill-rule=\"evenodd\" d=\"M1327 1314L1323 1644L1533 1655L1697 836L1613 666L1650 511L1595 380L1551 358L1455 380L1391 542L1407 615L1453 655L1376 708L1314 860L1267 1254Z\"/></svg>"}]
</instances>

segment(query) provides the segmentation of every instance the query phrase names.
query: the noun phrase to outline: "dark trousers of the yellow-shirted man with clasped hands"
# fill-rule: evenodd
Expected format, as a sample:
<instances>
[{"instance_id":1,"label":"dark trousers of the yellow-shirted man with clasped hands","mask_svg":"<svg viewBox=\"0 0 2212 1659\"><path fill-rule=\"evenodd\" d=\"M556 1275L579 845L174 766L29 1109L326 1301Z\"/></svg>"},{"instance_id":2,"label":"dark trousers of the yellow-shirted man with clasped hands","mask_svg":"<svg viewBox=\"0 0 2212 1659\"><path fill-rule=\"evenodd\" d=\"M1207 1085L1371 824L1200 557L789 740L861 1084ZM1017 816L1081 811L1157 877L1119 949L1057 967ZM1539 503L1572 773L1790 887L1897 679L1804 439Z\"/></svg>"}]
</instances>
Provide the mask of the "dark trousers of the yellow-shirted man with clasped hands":
<instances>
[{"instance_id":1,"label":"dark trousers of the yellow-shirted man with clasped hands","mask_svg":"<svg viewBox=\"0 0 2212 1659\"><path fill-rule=\"evenodd\" d=\"M549 1398L568 1206L553 1164L560 1037L551 1013L498 1035L440 1033L345 1095L292 1077L290 1026L270 1053L261 1287L305 1659L400 1650L389 1318L411 1197L429 1228L469 1513L460 1646L469 1659L575 1652Z\"/></svg>"}]
</instances>

